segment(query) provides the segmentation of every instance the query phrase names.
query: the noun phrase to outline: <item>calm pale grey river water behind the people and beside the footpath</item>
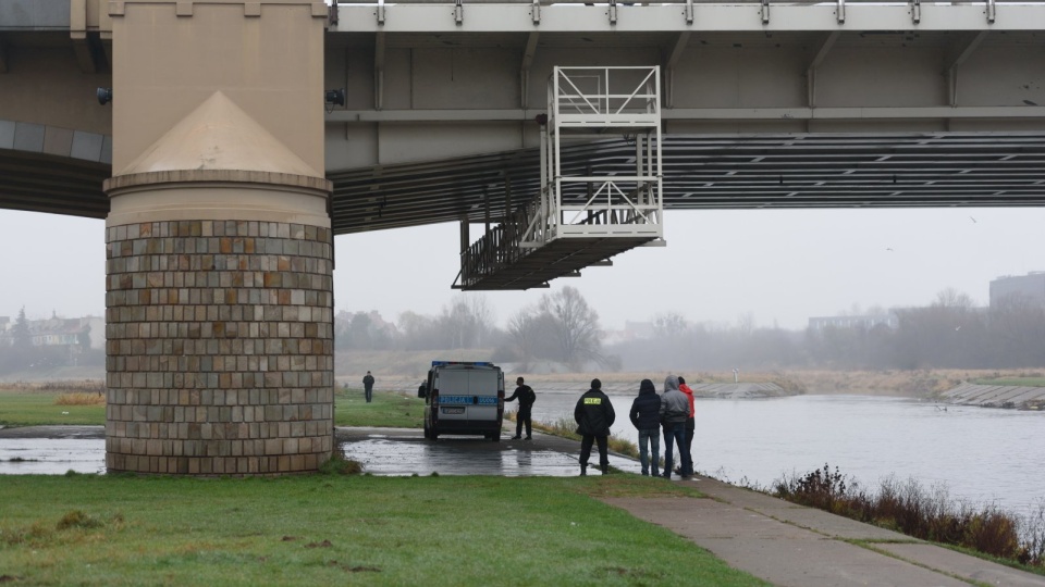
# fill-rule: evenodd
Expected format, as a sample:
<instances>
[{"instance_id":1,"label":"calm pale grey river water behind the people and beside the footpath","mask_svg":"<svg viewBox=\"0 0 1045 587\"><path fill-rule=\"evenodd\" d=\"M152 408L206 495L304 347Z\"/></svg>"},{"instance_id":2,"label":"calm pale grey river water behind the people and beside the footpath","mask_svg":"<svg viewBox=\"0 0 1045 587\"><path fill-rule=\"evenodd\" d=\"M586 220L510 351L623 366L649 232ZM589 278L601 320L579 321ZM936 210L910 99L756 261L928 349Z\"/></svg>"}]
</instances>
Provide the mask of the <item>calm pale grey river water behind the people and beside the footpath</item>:
<instances>
[{"instance_id":1,"label":"calm pale grey river water behind the people and beside the footpath","mask_svg":"<svg viewBox=\"0 0 1045 587\"><path fill-rule=\"evenodd\" d=\"M537 392L534 421L573 420L581 390ZM637 441L628 420L634 396L610 398L617 414L613 433ZM696 471L733 483L769 487L785 474L803 475L827 463L872 489L895 474L926 489L945 484L952 498L997 502L1017 513L1045 498L1041 412L945 410L896 397L795 396L698 399L696 417Z\"/></svg>"}]
</instances>

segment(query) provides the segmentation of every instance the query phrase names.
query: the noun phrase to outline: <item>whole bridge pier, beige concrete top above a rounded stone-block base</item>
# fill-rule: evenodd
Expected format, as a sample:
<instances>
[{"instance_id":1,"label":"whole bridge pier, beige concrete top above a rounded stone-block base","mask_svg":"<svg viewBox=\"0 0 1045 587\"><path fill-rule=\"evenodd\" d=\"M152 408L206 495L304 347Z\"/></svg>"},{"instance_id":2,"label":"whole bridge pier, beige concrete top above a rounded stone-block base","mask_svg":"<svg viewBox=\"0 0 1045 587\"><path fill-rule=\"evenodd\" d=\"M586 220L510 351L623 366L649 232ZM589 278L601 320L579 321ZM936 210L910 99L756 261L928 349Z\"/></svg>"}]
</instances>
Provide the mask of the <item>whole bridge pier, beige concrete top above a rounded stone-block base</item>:
<instances>
[{"instance_id":1,"label":"whole bridge pier, beige concrete top above a rounded stone-block base","mask_svg":"<svg viewBox=\"0 0 1045 587\"><path fill-rule=\"evenodd\" d=\"M109 11L106 464L316 470L333 446L327 8Z\"/></svg>"}]
</instances>

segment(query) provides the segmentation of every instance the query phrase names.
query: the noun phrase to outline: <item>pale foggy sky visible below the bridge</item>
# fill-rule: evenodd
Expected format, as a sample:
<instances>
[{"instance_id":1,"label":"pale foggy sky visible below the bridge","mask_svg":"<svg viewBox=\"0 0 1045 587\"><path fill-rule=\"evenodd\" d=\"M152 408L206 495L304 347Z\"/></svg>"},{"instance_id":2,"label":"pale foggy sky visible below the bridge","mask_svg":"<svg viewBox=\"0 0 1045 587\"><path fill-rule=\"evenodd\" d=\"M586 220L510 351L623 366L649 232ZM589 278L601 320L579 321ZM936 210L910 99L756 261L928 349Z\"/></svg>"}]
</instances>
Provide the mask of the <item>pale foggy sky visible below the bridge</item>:
<instances>
[{"instance_id":1,"label":"pale foggy sky visible below the bridge","mask_svg":"<svg viewBox=\"0 0 1045 587\"><path fill-rule=\"evenodd\" d=\"M804 328L855 304L930 303L952 287L978 304L1001 275L1045 271L1045 209L669 211L663 248L614 258L552 289L484 296L503 325L542 294L574 286L603 327L679 312L691 322ZM0 316L104 313L104 223L0 211ZM472 240L481 228L472 228ZM458 227L335 237L335 310L438 314L454 296Z\"/></svg>"}]
</instances>

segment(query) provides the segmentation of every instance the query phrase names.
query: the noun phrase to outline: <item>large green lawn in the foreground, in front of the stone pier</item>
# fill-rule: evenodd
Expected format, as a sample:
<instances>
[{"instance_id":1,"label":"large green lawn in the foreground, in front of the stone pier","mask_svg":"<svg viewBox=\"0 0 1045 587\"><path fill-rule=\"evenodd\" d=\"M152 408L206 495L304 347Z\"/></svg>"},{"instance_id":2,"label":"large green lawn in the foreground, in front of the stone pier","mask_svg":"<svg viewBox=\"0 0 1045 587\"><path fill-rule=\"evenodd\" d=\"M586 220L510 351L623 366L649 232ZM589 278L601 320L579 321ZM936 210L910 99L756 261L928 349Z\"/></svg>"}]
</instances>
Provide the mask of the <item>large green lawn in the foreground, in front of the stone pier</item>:
<instances>
[{"instance_id":1,"label":"large green lawn in the foreground, in front of the stone pier","mask_svg":"<svg viewBox=\"0 0 1045 587\"><path fill-rule=\"evenodd\" d=\"M11 476L19 585L764 585L592 495L607 477Z\"/></svg>"}]
</instances>

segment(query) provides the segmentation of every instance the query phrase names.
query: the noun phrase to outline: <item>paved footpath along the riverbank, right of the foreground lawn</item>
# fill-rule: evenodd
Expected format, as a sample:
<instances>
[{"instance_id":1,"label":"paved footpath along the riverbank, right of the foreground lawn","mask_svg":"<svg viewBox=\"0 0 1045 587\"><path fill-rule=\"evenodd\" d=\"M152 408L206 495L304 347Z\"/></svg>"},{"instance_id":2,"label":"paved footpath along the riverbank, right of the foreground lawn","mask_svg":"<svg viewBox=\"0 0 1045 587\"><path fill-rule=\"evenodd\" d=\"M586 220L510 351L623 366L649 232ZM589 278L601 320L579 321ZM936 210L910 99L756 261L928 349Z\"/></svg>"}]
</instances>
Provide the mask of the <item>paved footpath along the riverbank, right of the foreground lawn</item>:
<instances>
[{"instance_id":1,"label":"paved footpath along the riverbank, right of the foreground lawn","mask_svg":"<svg viewBox=\"0 0 1045 587\"><path fill-rule=\"evenodd\" d=\"M1045 576L821 510L704 477L693 484L711 499L604 501L664 526L774 585L1045 586Z\"/></svg>"}]
</instances>

